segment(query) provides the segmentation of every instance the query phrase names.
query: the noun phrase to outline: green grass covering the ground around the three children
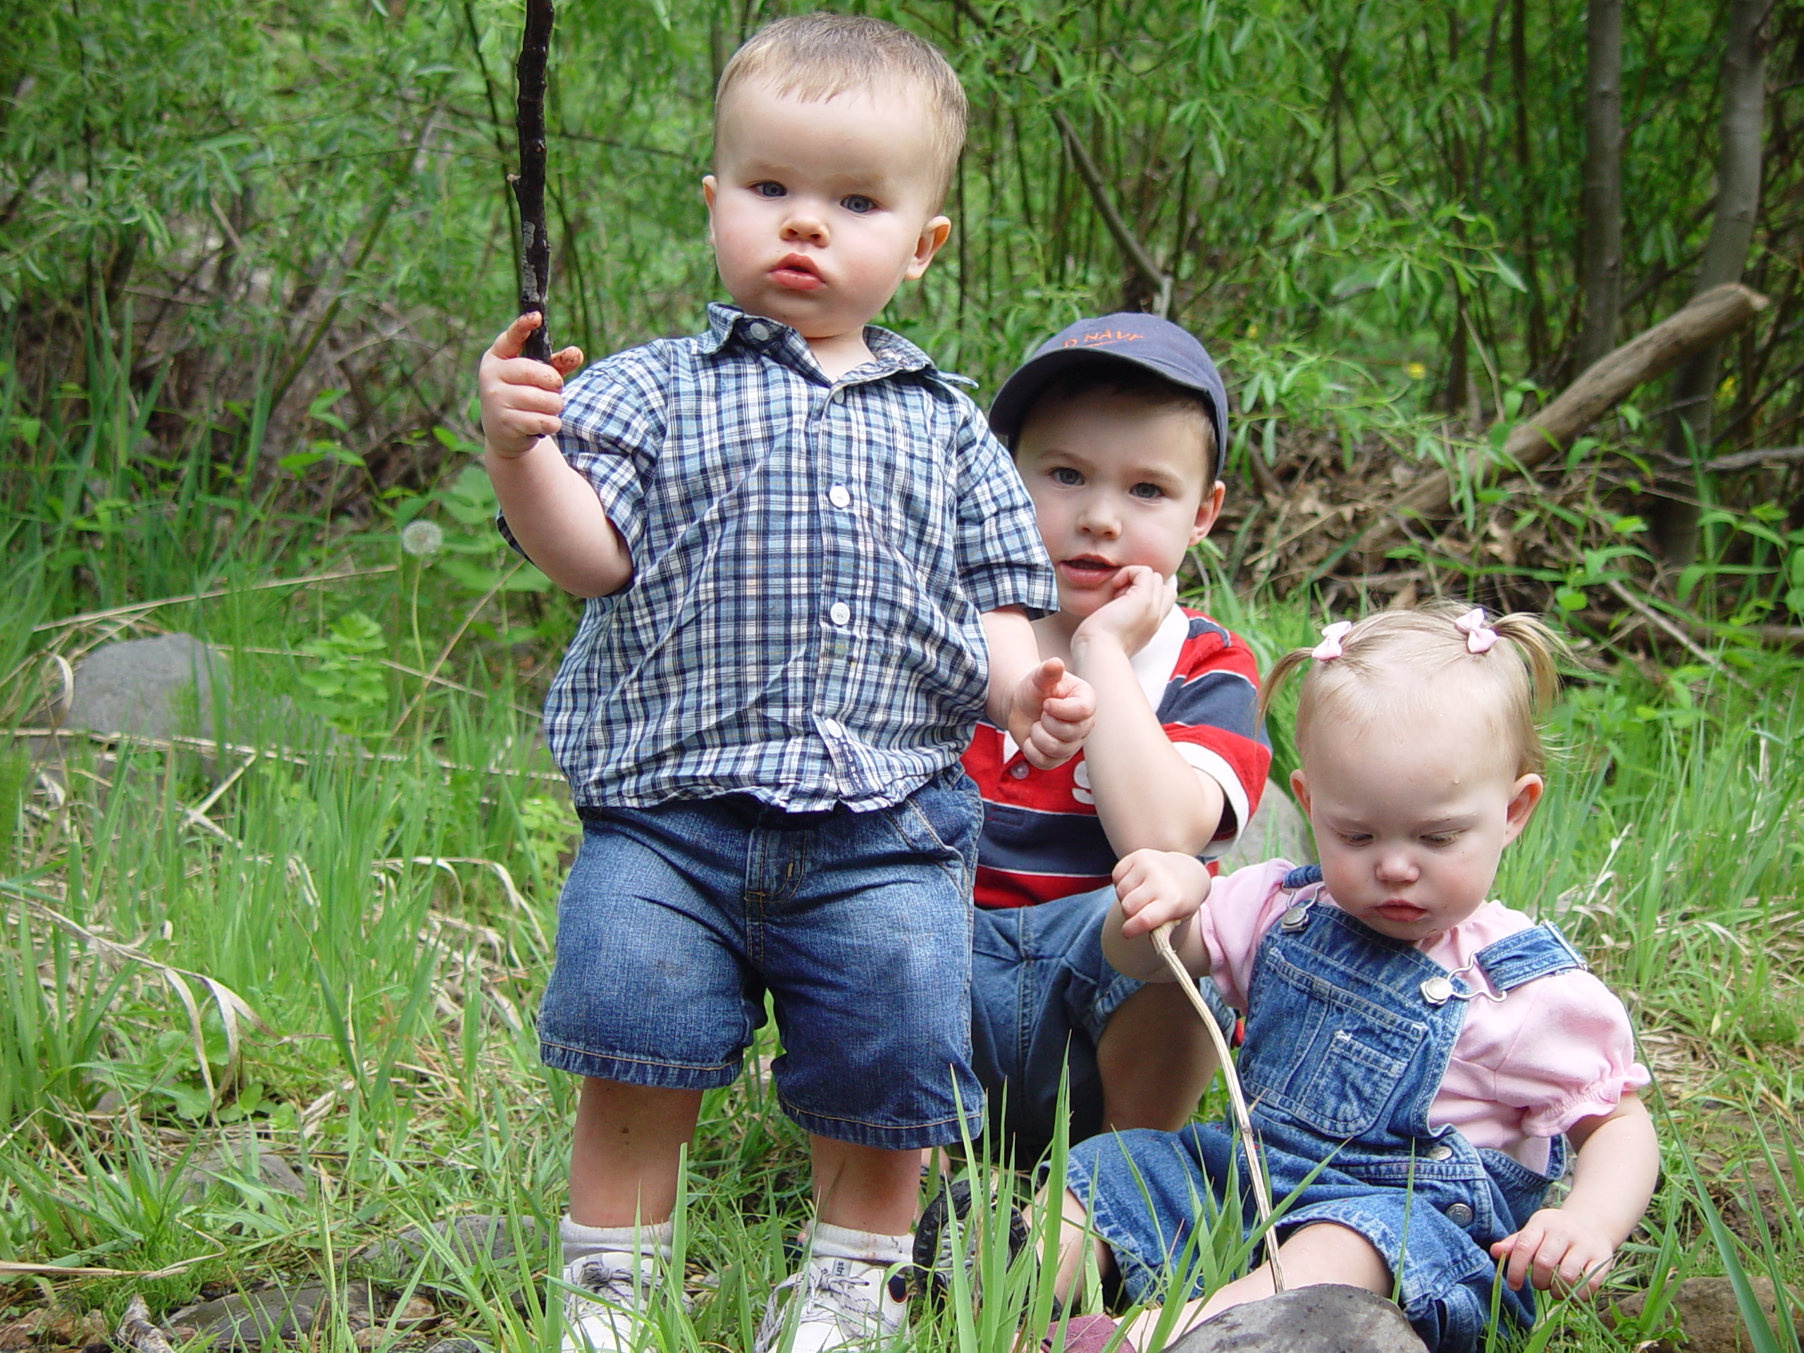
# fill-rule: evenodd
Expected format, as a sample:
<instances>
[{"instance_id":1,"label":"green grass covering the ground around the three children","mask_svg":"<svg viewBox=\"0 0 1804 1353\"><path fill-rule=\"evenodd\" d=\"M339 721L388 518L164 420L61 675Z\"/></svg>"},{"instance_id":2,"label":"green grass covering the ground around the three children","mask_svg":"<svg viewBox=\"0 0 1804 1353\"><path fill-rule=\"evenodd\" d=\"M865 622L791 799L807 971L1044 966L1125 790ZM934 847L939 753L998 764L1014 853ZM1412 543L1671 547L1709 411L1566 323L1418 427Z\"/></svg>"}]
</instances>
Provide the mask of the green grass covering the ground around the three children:
<instances>
[{"instance_id":1,"label":"green grass covering the ground around the three children","mask_svg":"<svg viewBox=\"0 0 1804 1353\"><path fill-rule=\"evenodd\" d=\"M45 1301L112 1322L139 1290L166 1312L206 1283L343 1283L359 1247L446 1216L552 1227L572 1082L539 1066L532 1008L577 824L536 709L574 608L494 541L480 474L391 496L348 532L211 482L198 451L133 462L130 420L103 404L45 435L36 487L0 523L0 711L41 723L54 655L182 630L227 655L235 696L213 727L229 745L63 738L52 783L0 743L0 1261L162 1274L22 1279L0 1286L0 1322ZM65 492L87 507L60 512ZM420 518L438 554L400 550ZM159 597L175 601L144 606ZM1209 606L1266 660L1319 624L1302 599L1220 581ZM1692 1274L1799 1279L1804 664L1734 657L1734 676L1622 664L1573 686L1544 806L1505 859L1499 893L1559 916L1634 1010L1667 1153L1611 1279L1649 1292L1643 1315L1609 1333L1562 1306L1537 1335L1557 1348L1658 1335ZM1281 765L1284 720L1281 704ZM204 1144L251 1133L305 1198L179 1185ZM805 1142L765 1079L711 1093L682 1247L691 1277L714 1279L689 1284L693 1310L664 1308L666 1346L749 1348L806 1218ZM992 1214L974 1230L989 1299L924 1317L924 1348L1003 1353L1017 1322L1052 1319L1045 1218L1012 1266ZM547 1259L440 1252L388 1277L431 1281L435 1337L550 1346ZM1247 1245L1205 1227L1191 1261L1230 1275ZM420 1339L393 1328L377 1346ZM1797 1348L1784 1321L1759 1339ZM355 1346L343 1326L318 1342Z\"/></svg>"}]
</instances>

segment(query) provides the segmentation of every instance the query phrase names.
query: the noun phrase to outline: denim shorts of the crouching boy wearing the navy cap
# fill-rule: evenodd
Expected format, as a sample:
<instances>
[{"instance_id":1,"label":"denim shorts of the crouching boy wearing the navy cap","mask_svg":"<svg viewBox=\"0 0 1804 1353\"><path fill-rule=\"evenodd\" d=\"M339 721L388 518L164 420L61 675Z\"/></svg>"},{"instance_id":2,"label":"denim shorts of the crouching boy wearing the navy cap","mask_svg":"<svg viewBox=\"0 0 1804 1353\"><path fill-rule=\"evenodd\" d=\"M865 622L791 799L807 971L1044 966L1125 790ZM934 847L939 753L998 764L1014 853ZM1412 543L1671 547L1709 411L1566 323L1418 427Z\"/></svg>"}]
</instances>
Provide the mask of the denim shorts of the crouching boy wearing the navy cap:
<instances>
[{"instance_id":1,"label":"denim shorts of the crouching boy wearing the navy cap","mask_svg":"<svg viewBox=\"0 0 1804 1353\"><path fill-rule=\"evenodd\" d=\"M1052 1146L1059 1079L1070 1082L1070 1137L1102 1131L1097 1041L1142 983L1102 956L1102 922L1113 888L1073 893L1034 907L978 907L971 943L971 1039L990 1124L1026 1165ZM1198 989L1221 1028L1234 1012L1216 983Z\"/></svg>"}]
</instances>

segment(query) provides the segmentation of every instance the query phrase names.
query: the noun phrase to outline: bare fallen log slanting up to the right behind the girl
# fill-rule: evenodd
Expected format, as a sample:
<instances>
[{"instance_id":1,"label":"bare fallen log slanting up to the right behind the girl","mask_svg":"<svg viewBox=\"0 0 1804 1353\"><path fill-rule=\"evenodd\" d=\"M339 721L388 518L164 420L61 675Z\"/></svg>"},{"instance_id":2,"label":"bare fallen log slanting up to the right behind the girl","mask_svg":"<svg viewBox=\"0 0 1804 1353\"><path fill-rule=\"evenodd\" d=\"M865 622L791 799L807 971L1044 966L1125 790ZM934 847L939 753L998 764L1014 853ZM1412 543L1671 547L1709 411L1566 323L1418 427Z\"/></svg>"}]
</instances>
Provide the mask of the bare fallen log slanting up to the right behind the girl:
<instances>
[{"instance_id":1,"label":"bare fallen log slanting up to the right behind the girl","mask_svg":"<svg viewBox=\"0 0 1804 1353\"><path fill-rule=\"evenodd\" d=\"M1766 298L1730 281L1712 287L1678 314L1667 316L1615 352L1598 357L1528 422L1517 424L1503 444L1503 458L1533 469L1564 451L1578 433L1597 422L1611 404L1640 384L1665 375L1696 352L1734 334L1764 310ZM1479 483L1497 469L1483 451L1468 451L1465 476ZM1376 550L1404 534L1420 518L1445 516L1454 502L1454 476L1438 469L1394 498L1358 536L1358 548Z\"/></svg>"}]
</instances>

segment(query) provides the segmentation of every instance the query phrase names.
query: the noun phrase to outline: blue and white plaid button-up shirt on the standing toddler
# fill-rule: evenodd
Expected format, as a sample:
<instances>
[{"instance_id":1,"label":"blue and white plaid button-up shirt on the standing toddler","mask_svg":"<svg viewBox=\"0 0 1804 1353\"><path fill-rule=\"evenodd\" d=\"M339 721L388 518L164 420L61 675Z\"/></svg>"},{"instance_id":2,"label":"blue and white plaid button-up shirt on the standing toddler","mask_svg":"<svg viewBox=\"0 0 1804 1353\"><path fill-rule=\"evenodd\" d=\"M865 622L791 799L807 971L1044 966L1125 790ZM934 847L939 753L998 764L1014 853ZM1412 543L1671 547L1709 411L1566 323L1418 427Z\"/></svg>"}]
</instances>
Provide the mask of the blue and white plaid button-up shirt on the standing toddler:
<instances>
[{"instance_id":1,"label":"blue and white plaid button-up shirt on the standing toddler","mask_svg":"<svg viewBox=\"0 0 1804 1353\"><path fill-rule=\"evenodd\" d=\"M707 321L565 388L559 449L633 577L583 610L552 756L579 806L900 803L971 741L980 615L1059 604L1034 507L913 343L866 328L875 361L828 381L785 325Z\"/></svg>"}]
</instances>

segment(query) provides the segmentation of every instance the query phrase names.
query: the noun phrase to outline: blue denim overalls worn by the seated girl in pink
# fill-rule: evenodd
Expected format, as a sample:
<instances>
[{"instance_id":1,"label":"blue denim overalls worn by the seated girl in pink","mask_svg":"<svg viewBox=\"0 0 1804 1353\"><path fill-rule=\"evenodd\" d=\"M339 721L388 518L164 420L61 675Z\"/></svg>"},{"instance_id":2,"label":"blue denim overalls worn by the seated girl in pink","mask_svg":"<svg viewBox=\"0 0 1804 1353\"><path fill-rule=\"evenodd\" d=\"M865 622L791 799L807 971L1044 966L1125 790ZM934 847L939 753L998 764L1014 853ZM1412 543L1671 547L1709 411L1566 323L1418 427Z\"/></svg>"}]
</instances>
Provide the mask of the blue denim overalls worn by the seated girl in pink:
<instances>
[{"instance_id":1,"label":"blue denim overalls worn by the seated girl in pink","mask_svg":"<svg viewBox=\"0 0 1804 1353\"><path fill-rule=\"evenodd\" d=\"M1284 879L1292 906L1259 942L1238 1061L1279 1230L1339 1221L1360 1232L1402 1279L1398 1299L1423 1342L1445 1353L1476 1349L1496 1275L1488 1248L1541 1207L1564 1171L1566 1144L1551 1142L1548 1174L1537 1174L1450 1126L1429 1128L1429 1106L1468 999L1506 996L1535 978L1584 969L1584 960L1542 924L1481 949L1474 965L1483 980L1468 981L1414 945L1317 906L1319 886L1315 866ZM1198 1200L1221 1198L1230 1149L1227 1126L1129 1131L1072 1147L1066 1185L1115 1252L1128 1295L1160 1295ZM1245 1187L1247 1158L1238 1149L1234 1156ZM1241 1205L1250 1225L1250 1194ZM1532 1290L1497 1286L1506 1317L1524 1330L1533 1324Z\"/></svg>"}]
</instances>

